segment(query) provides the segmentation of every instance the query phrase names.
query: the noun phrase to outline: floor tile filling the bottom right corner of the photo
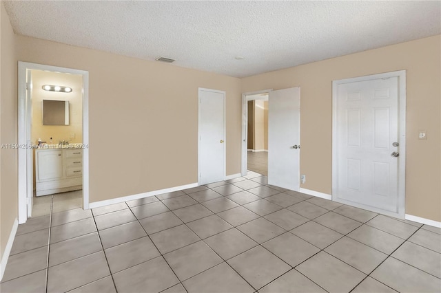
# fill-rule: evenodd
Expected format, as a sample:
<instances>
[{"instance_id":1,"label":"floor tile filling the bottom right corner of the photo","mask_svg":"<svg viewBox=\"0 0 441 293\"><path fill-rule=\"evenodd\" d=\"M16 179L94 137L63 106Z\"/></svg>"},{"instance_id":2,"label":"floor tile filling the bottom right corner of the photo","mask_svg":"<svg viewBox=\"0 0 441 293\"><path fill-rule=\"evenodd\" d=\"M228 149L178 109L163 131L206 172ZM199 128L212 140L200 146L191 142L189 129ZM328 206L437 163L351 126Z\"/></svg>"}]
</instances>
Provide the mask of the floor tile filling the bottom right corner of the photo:
<instances>
[{"instance_id":1,"label":"floor tile filling the bottom right corner of the photo","mask_svg":"<svg viewBox=\"0 0 441 293\"><path fill-rule=\"evenodd\" d=\"M441 279L389 257L371 274L398 292L440 292Z\"/></svg>"}]
</instances>

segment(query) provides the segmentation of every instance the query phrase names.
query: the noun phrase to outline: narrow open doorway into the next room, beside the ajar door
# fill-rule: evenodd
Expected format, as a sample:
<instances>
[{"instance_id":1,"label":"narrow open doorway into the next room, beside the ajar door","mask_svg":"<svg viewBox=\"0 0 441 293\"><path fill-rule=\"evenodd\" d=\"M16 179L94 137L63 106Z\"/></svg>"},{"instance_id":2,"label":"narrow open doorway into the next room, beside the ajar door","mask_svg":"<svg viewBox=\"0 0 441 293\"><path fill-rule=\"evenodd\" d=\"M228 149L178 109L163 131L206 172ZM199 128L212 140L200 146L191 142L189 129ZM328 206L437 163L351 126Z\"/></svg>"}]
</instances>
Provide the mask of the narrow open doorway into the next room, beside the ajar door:
<instances>
[{"instance_id":1,"label":"narrow open doorway into the next room, beside the ajar door","mask_svg":"<svg viewBox=\"0 0 441 293\"><path fill-rule=\"evenodd\" d=\"M268 97L269 91L243 94L243 176L248 171L268 175Z\"/></svg>"}]
</instances>

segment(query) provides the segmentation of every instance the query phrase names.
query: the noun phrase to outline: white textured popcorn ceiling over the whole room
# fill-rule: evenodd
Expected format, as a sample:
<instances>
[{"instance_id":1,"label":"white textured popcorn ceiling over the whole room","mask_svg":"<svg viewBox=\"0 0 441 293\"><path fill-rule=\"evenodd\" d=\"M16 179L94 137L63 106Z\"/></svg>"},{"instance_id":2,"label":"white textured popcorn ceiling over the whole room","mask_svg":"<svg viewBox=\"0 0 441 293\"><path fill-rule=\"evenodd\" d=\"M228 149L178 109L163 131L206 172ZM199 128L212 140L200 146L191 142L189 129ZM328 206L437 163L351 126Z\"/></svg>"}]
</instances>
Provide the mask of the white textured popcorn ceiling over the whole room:
<instances>
[{"instance_id":1,"label":"white textured popcorn ceiling over the whole room","mask_svg":"<svg viewBox=\"0 0 441 293\"><path fill-rule=\"evenodd\" d=\"M441 33L441 1L2 2L17 34L236 77Z\"/></svg>"}]
</instances>

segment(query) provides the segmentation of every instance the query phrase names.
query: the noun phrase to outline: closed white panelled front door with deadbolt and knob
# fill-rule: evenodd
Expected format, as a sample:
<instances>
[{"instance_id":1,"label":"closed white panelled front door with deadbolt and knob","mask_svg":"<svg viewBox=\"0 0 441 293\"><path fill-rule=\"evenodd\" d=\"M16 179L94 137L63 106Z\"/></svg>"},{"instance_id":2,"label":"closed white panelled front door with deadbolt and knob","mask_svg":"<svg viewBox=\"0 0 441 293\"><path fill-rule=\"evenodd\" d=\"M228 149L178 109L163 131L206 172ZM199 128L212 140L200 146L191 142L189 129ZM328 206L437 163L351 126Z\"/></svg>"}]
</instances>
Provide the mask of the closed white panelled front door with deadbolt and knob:
<instances>
[{"instance_id":1,"label":"closed white panelled front door with deadbolt and knob","mask_svg":"<svg viewBox=\"0 0 441 293\"><path fill-rule=\"evenodd\" d=\"M398 215L404 144L399 78L371 78L334 82L332 196L337 202Z\"/></svg>"}]
</instances>

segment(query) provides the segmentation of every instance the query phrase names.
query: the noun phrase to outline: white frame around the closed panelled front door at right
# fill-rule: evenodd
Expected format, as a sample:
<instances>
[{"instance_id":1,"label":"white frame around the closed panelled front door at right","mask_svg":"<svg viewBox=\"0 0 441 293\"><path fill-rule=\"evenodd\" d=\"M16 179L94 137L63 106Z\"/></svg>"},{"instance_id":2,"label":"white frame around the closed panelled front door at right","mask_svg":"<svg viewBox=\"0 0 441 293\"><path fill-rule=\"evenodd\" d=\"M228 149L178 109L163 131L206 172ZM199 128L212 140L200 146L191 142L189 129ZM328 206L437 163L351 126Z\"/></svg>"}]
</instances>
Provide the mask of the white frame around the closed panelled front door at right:
<instances>
[{"instance_id":1,"label":"white frame around the closed panelled front door at right","mask_svg":"<svg viewBox=\"0 0 441 293\"><path fill-rule=\"evenodd\" d=\"M398 142L400 144L400 156L398 157L398 213L391 213L385 210L369 208L370 210L382 213L384 215L391 215L393 217L400 217L404 219L405 199L406 199L406 70L396 72L386 72L382 74L372 74L368 76L359 76L355 78L346 78L342 80L332 81L332 200L338 202L336 199L337 192L337 87L343 83L356 83L360 81L373 80L379 78L398 77ZM366 206L352 204L359 208L366 208Z\"/></svg>"}]
</instances>

